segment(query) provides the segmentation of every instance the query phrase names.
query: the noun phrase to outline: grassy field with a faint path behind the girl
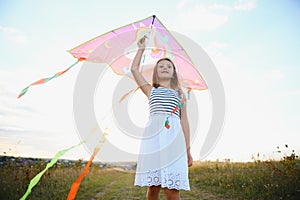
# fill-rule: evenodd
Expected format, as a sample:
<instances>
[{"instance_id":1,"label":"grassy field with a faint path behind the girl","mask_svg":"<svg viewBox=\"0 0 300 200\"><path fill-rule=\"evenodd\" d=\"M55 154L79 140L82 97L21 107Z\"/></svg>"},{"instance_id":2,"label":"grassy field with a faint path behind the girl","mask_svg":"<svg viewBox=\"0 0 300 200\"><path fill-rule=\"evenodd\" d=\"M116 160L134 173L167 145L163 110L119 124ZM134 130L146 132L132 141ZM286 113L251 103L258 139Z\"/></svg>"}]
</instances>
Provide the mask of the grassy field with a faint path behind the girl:
<instances>
[{"instance_id":1,"label":"grassy field with a faint path behind the girl","mask_svg":"<svg viewBox=\"0 0 300 200\"><path fill-rule=\"evenodd\" d=\"M1 200L20 199L31 178L48 162L0 158ZM66 199L84 164L82 160L58 162L44 174L28 199ZM280 161L196 162L189 173L191 191L181 192L181 199L300 199L300 161L294 153ZM146 188L134 187L133 182L134 165L115 167L94 163L76 199L145 199Z\"/></svg>"}]
</instances>

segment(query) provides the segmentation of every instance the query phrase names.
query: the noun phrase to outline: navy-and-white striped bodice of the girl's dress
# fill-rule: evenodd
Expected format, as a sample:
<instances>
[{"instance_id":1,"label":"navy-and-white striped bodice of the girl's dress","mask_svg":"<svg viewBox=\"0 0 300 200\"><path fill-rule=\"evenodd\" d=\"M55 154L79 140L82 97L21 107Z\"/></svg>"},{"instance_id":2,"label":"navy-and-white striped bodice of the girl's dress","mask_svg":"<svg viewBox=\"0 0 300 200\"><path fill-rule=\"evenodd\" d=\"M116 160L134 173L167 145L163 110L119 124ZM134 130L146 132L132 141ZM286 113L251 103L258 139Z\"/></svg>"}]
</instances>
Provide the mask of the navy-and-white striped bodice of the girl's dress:
<instances>
[{"instance_id":1,"label":"navy-and-white striped bodice of the girl's dress","mask_svg":"<svg viewBox=\"0 0 300 200\"><path fill-rule=\"evenodd\" d=\"M180 98L176 90L164 87L153 87L149 99L150 114L170 115L179 102ZM180 117L179 109L173 113L173 115Z\"/></svg>"}]
</instances>

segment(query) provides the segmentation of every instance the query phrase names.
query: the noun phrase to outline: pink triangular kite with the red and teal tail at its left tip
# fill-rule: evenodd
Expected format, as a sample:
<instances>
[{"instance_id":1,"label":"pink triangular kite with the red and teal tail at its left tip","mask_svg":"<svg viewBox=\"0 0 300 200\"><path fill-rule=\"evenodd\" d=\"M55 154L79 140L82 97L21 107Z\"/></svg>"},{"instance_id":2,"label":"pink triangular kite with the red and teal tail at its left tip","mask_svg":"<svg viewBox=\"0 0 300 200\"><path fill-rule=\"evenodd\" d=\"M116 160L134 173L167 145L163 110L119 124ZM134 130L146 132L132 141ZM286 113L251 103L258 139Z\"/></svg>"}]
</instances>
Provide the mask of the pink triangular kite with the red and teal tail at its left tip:
<instances>
[{"instance_id":1,"label":"pink triangular kite with the red and teal tail at its left tip","mask_svg":"<svg viewBox=\"0 0 300 200\"><path fill-rule=\"evenodd\" d=\"M204 79L184 48L153 15L109 31L69 50L77 59L74 64L51 77L33 82L21 91L18 98L22 97L29 87L61 76L80 61L106 63L116 74L133 78L130 66L137 51L137 41L144 36L147 36L148 44L141 62L141 72L147 81L151 82L156 61L167 57L175 64L180 85L187 89L188 94L191 90L207 89Z\"/></svg>"}]
</instances>

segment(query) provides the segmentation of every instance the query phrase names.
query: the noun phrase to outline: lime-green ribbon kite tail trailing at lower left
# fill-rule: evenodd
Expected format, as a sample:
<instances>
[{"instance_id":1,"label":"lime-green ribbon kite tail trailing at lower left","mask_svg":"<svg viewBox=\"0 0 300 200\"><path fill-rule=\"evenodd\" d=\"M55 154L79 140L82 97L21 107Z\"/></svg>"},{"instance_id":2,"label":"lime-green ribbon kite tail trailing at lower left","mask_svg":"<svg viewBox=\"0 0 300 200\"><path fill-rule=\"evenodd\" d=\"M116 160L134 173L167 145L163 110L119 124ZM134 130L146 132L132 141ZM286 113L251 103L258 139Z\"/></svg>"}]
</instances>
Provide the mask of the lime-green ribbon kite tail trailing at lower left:
<instances>
[{"instance_id":1,"label":"lime-green ribbon kite tail trailing at lower left","mask_svg":"<svg viewBox=\"0 0 300 200\"><path fill-rule=\"evenodd\" d=\"M54 156L54 158L52 158L51 162L47 164L47 166L45 167L45 169L43 171L41 171L40 173L38 173L33 179L31 179L29 185L28 185L28 188L27 188L27 191L25 192L25 194L21 197L20 200L25 200L28 195L31 193L31 190L32 188L40 181L41 177L44 175L44 173L50 168L52 167L56 162L57 160L63 156L66 152L68 152L69 150L77 147L77 146L80 146L81 144L83 144L84 142L80 142L79 144L75 145L75 146L72 146L68 149L64 149L64 150L61 150L59 152L56 153L56 155Z\"/></svg>"}]
</instances>

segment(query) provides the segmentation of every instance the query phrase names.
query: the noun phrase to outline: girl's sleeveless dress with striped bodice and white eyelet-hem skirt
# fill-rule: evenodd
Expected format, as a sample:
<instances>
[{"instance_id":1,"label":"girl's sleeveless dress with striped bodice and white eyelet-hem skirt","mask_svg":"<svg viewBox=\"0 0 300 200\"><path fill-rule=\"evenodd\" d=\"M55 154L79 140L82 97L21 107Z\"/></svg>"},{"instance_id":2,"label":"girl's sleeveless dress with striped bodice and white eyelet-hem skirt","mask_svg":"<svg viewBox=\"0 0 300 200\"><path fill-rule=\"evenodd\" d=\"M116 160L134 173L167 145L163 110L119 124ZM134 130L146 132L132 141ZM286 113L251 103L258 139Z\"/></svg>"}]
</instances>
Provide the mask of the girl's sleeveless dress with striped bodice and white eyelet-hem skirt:
<instances>
[{"instance_id":1,"label":"girl's sleeveless dress with striped bodice and white eyelet-hem skirt","mask_svg":"<svg viewBox=\"0 0 300 200\"><path fill-rule=\"evenodd\" d=\"M134 185L190 190L186 143L180 124L176 90L151 90L150 116L141 141ZM168 118L170 128L165 127Z\"/></svg>"}]
</instances>

